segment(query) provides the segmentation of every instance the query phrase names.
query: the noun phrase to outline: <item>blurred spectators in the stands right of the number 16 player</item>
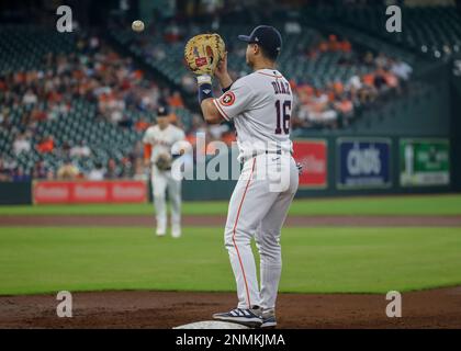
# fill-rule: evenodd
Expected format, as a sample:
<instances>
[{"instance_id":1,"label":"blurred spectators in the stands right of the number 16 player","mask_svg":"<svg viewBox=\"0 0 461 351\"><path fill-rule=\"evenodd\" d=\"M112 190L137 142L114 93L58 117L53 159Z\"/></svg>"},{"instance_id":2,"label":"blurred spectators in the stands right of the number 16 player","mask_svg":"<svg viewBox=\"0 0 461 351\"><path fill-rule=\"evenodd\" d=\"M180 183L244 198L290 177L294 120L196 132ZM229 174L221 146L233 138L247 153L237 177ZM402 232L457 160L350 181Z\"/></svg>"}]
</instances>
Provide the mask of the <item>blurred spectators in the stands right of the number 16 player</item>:
<instances>
[{"instance_id":1,"label":"blurred spectators in the stands right of the number 16 player","mask_svg":"<svg viewBox=\"0 0 461 351\"><path fill-rule=\"evenodd\" d=\"M306 59L326 52L340 52L338 65L361 66L363 75L352 75L346 81L334 80L325 87L310 84L308 80L291 81L296 98L292 126L297 127L345 127L357 117L359 111L383 103L390 97L401 94L411 78L413 68L403 60L384 53L351 52L349 42L339 42L336 35L307 52Z\"/></svg>"}]
</instances>

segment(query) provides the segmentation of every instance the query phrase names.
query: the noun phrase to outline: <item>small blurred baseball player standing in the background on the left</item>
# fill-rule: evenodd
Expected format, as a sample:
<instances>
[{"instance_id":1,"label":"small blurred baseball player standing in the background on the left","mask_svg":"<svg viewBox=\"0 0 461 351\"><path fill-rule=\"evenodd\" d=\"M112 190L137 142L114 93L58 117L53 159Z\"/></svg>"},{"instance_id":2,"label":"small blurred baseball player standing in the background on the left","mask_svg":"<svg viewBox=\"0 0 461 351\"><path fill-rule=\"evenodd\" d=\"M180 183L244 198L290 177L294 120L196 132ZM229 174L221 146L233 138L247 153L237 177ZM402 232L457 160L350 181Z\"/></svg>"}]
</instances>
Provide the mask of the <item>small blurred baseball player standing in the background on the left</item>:
<instances>
[{"instance_id":1,"label":"small blurred baseball player standing in the background on the left","mask_svg":"<svg viewBox=\"0 0 461 351\"><path fill-rule=\"evenodd\" d=\"M184 140L184 132L170 124L169 113L160 106L157 111L157 124L147 128L144 143L145 165L151 167L151 185L157 214L157 236L167 233L166 191L171 201L171 235L181 236L181 181L171 174L171 163L181 152L175 152L175 145Z\"/></svg>"}]
</instances>

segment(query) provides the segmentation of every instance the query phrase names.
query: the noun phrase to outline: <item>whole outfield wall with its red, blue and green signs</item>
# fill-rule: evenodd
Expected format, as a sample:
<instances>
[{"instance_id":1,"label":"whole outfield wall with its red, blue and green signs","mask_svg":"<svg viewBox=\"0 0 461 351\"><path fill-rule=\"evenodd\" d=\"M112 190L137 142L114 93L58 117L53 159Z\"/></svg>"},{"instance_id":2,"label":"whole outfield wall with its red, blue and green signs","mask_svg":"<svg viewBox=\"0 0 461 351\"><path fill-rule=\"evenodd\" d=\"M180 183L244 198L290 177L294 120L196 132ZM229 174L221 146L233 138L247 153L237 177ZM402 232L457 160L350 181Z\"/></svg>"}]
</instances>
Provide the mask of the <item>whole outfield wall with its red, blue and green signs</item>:
<instances>
[{"instance_id":1,"label":"whole outfield wall with its red, blue and green signs","mask_svg":"<svg viewBox=\"0 0 461 351\"><path fill-rule=\"evenodd\" d=\"M449 138L438 136L296 139L294 157L304 166L297 197L453 192L459 183L452 179L457 154L451 144ZM239 167L236 152L216 157L229 162L232 179L232 168ZM196 168L201 166L204 167ZM235 183L221 179L185 180L183 200L228 200ZM0 183L0 204L147 200L151 201L151 189L142 181Z\"/></svg>"}]
</instances>

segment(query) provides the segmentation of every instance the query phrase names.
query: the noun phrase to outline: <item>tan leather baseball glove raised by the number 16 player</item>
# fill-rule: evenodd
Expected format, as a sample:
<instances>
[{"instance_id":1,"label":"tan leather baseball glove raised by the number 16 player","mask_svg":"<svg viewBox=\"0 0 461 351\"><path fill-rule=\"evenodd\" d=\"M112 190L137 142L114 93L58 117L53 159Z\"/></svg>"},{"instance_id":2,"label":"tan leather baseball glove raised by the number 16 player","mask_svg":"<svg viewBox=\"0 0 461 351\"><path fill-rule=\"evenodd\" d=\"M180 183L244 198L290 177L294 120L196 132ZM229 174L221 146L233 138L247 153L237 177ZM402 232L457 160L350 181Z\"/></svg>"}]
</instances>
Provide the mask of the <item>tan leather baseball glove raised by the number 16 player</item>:
<instances>
[{"instance_id":1,"label":"tan leather baseball glove raised by the number 16 player","mask_svg":"<svg viewBox=\"0 0 461 351\"><path fill-rule=\"evenodd\" d=\"M184 60L195 75L213 76L226 46L220 34L200 34L190 38L184 47Z\"/></svg>"}]
</instances>

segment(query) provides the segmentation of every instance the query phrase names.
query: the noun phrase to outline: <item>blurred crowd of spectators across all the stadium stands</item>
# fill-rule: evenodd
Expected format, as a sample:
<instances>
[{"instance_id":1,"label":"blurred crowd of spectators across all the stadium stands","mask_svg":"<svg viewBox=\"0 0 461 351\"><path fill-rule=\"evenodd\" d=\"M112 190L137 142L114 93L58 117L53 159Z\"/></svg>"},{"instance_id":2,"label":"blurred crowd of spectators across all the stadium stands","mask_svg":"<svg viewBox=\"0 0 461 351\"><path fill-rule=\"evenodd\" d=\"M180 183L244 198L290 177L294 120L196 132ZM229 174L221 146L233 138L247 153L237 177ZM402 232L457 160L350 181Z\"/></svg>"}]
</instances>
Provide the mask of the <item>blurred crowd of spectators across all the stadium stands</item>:
<instances>
[{"instance_id":1,"label":"blurred crowd of spectators across all the stadium stands","mask_svg":"<svg viewBox=\"0 0 461 351\"><path fill-rule=\"evenodd\" d=\"M220 18L213 21L220 27ZM190 24L180 27L170 21L162 31L164 44L180 43L184 36L199 33L200 26ZM284 31L299 33L296 23L288 23ZM165 46L154 41L142 39L139 45L144 55L155 60L168 60ZM143 147L140 143L121 158L109 157L103 163L92 162L91 169L80 169L79 162L94 156L92 145L82 140L72 144L59 140L55 135L40 133L41 124L67 117L76 100L90 102L97 109L97 122L112 123L121 128L143 133L154 121L153 112L159 104L184 107L180 91L164 88L155 80L145 77L132 58L116 54L95 35L77 36L76 52L70 54L49 53L43 58L41 68L0 75L0 128L14 135L12 156L0 155L1 180L34 179L116 179L146 177L143 168ZM245 47L228 45L229 56L245 59ZM333 80L324 87L312 83L310 77L291 80L295 99L292 115L293 128L330 127L338 128L350 124L358 111L372 106L383 97L401 93L411 78L412 67L383 53L361 52L352 47L346 38L336 35L322 36L314 46L299 47L293 53L297 59L316 59L330 53L340 54L338 65L344 67L366 67L367 73L353 75L347 81ZM243 71L233 70L233 78ZM283 72L283 69L281 69ZM184 73L180 86L185 95L195 99L196 83L192 75ZM220 94L216 87L216 94ZM15 110L21 111L20 123L12 121ZM134 112L134 113L127 113ZM133 115L139 115L133 118ZM183 126L182 121L171 114L171 122ZM210 126L198 113L188 123L187 138L195 145L196 133L203 133L206 140L222 140L231 145L235 140L231 123ZM199 150L213 154L214 150ZM21 155L36 152L55 155L61 162L49 167L46 159L35 161L33 169L23 169L18 162Z\"/></svg>"}]
</instances>

